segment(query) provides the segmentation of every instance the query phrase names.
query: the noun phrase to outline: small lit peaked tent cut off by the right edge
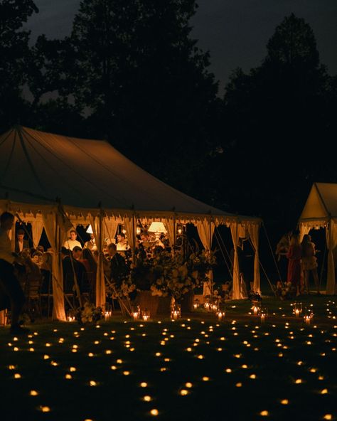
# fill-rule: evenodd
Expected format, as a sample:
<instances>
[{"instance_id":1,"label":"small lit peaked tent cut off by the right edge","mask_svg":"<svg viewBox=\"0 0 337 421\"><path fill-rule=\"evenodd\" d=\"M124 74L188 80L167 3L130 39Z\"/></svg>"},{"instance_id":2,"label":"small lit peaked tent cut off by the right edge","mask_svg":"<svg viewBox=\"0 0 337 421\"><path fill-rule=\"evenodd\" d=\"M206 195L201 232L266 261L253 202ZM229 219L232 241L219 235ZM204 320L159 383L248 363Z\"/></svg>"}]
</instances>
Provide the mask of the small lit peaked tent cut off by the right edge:
<instances>
[{"instance_id":1,"label":"small lit peaked tent cut off by the right edge","mask_svg":"<svg viewBox=\"0 0 337 421\"><path fill-rule=\"evenodd\" d=\"M328 277L326 294L336 294L336 278L333 254L337 247L337 184L314 183L299 218L301 239L312 228L326 229L328 248Z\"/></svg>"}]
</instances>

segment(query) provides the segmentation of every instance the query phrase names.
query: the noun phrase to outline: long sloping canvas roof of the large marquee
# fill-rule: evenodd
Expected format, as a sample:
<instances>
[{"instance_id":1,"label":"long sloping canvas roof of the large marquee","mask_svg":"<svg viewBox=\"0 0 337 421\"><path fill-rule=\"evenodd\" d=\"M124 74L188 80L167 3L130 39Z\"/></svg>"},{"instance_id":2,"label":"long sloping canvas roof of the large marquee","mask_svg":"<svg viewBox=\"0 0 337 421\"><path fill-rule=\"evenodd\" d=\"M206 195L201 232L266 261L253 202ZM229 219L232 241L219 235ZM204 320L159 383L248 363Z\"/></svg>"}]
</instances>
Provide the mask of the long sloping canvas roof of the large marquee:
<instances>
[{"instance_id":1,"label":"long sloping canvas roof of the large marquee","mask_svg":"<svg viewBox=\"0 0 337 421\"><path fill-rule=\"evenodd\" d=\"M16 126L0 136L0 200L47 206L62 202L73 213L148 217L180 215L252 220L197 201L151 176L103 140L77 139Z\"/></svg>"}]
</instances>

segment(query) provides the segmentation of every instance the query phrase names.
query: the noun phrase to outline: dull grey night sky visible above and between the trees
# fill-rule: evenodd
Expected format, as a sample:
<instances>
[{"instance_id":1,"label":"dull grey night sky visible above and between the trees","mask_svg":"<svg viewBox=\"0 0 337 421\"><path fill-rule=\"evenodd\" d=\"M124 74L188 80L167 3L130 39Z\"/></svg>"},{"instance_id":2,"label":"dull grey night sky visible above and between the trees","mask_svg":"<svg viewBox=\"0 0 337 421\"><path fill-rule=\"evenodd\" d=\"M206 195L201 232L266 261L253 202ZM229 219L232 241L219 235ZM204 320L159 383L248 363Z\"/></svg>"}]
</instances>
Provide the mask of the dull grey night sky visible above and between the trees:
<instances>
[{"instance_id":1,"label":"dull grey night sky visible above and between the trees","mask_svg":"<svg viewBox=\"0 0 337 421\"><path fill-rule=\"evenodd\" d=\"M62 38L70 33L80 0L35 0L40 9L28 21L33 39L41 33ZM266 44L284 16L304 18L314 30L321 63L331 75L337 73L336 0L199 0L191 22L193 37L210 50L210 71L220 80L220 94L230 71L248 71L260 65Z\"/></svg>"}]
</instances>

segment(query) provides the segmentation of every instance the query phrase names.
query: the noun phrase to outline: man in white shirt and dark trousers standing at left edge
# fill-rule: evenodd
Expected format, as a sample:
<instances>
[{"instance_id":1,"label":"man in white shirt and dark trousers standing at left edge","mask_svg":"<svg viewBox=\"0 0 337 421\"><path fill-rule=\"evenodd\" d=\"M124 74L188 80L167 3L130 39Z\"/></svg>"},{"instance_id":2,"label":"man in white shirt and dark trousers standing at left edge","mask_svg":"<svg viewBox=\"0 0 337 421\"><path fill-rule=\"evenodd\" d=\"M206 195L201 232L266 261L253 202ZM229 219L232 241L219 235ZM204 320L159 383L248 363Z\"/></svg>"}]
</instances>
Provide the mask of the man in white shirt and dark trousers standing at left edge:
<instances>
[{"instance_id":1,"label":"man in white shirt and dark trousers standing at left edge","mask_svg":"<svg viewBox=\"0 0 337 421\"><path fill-rule=\"evenodd\" d=\"M14 215L4 212L0 216L0 310L11 309L11 334L28 333L18 324L25 297L14 275L16 257L11 252L9 231L14 225Z\"/></svg>"}]
</instances>

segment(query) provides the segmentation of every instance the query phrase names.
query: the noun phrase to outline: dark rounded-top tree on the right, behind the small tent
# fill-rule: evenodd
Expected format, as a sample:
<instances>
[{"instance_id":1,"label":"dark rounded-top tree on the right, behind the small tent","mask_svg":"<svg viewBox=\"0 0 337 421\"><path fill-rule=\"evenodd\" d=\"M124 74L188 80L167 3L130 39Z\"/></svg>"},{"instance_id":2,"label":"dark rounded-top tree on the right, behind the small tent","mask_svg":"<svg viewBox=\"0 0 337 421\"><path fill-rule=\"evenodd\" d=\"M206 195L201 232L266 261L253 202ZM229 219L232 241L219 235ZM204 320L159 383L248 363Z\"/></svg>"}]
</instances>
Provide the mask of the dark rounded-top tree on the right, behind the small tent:
<instances>
[{"instance_id":1,"label":"dark rounded-top tree on the right, behind the small tent","mask_svg":"<svg viewBox=\"0 0 337 421\"><path fill-rule=\"evenodd\" d=\"M311 183L336 181L328 152L336 127L333 86L310 26L294 14L284 18L262 65L248 74L238 68L226 87L228 136L214 181L223 180L219 196L227 193L239 212L292 227Z\"/></svg>"}]
</instances>

